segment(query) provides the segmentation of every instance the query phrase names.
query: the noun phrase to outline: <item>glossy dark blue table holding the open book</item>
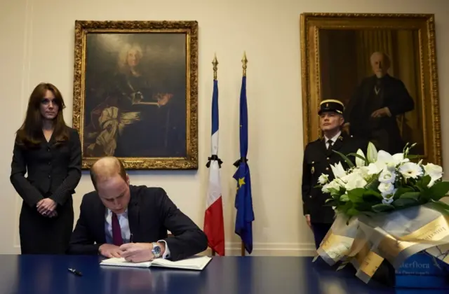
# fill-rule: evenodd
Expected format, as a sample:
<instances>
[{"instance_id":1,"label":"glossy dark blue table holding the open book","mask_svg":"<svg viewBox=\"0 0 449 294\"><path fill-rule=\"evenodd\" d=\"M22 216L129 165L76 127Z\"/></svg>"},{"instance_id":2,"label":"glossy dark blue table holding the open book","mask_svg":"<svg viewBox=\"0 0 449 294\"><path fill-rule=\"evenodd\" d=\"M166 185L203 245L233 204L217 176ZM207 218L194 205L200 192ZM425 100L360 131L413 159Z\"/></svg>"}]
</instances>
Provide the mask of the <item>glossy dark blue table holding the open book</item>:
<instances>
[{"instance_id":1,"label":"glossy dark blue table holding the open book","mask_svg":"<svg viewBox=\"0 0 449 294\"><path fill-rule=\"evenodd\" d=\"M350 269L335 272L323 262L299 257L213 257L203 272L100 267L98 256L0 255L4 293L443 293L367 286ZM83 273L68 272L72 267Z\"/></svg>"}]
</instances>

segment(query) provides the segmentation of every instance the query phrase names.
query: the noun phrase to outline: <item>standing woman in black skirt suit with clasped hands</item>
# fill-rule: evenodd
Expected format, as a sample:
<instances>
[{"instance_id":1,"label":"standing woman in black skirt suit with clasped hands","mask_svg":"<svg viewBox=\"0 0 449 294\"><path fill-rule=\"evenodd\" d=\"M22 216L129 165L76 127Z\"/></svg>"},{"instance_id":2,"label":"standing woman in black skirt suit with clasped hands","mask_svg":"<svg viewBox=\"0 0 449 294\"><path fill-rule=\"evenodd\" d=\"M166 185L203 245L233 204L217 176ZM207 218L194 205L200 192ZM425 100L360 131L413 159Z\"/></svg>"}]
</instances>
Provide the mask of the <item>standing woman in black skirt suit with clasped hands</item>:
<instances>
[{"instance_id":1,"label":"standing woman in black skirt suit with clasped hands","mask_svg":"<svg viewBox=\"0 0 449 294\"><path fill-rule=\"evenodd\" d=\"M81 142L65 124L58 88L37 85L15 137L11 183L22 197L22 254L65 254L73 230L72 195L81 179ZM27 178L25 178L27 173Z\"/></svg>"}]
</instances>

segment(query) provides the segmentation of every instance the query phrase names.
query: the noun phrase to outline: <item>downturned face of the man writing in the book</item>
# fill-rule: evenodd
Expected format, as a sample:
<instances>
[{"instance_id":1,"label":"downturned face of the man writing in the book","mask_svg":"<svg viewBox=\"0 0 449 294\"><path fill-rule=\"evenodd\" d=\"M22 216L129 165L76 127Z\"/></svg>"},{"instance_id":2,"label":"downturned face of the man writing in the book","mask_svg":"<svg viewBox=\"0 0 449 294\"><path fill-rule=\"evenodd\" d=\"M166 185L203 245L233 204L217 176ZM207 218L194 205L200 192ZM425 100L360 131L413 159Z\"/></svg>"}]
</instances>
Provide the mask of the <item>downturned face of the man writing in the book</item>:
<instances>
[{"instance_id":1,"label":"downturned face of the man writing in the book","mask_svg":"<svg viewBox=\"0 0 449 294\"><path fill-rule=\"evenodd\" d=\"M124 181L119 174L97 183L97 191L105 207L116 214L123 214L130 200L129 178Z\"/></svg>"}]
</instances>

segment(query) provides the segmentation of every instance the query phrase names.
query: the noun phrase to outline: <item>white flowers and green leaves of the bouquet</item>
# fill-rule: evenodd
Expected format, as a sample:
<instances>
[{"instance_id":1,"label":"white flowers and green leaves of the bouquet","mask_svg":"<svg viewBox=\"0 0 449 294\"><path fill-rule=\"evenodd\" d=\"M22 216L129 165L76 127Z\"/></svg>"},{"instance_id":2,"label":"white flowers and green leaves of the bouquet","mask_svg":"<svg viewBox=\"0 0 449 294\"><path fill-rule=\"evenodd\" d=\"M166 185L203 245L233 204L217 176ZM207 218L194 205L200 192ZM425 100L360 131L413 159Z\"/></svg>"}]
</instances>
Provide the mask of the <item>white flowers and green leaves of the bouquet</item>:
<instances>
[{"instance_id":1,"label":"white flowers and green leaves of the bouquet","mask_svg":"<svg viewBox=\"0 0 449 294\"><path fill-rule=\"evenodd\" d=\"M355 165L346 155L334 151L347 162L349 169L344 170L338 162L331 165L333 181L328 180L327 174L319 177L319 187L330 195L326 205L349 217L372 216L428 202L437 202L449 211L449 205L440 201L449 191L449 182L442 181L443 169L432 163L422 165L422 160L412 162L416 158L409 155L413 146L407 145L403 153L391 155L377 152L370 143L366 156L360 149L348 154L356 158Z\"/></svg>"}]
</instances>

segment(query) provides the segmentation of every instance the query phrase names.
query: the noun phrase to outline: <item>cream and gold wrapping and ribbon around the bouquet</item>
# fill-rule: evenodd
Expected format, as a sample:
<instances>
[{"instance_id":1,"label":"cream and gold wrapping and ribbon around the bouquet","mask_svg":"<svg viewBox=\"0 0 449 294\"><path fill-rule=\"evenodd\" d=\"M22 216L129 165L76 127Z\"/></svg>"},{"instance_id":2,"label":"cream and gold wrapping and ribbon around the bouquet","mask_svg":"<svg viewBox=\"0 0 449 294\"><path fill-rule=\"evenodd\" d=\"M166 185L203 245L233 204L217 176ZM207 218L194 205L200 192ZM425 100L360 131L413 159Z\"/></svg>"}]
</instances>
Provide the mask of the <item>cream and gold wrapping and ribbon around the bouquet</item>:
<instances>
[{"instance_id":1,"label":"cream and gold wrapping and ribbon around the bouquet","mask_svg":"<svg viewBox=\"0 0 449 294\"><path fill-rule=\"evenodd\" d=\"M397 270L421 251L449 264L449 216L435 202L376 216L337 214L317 253L328 265L342 262L339 269L351 262L368 283L384 260Z\"/></svg>"}]
</instances>

